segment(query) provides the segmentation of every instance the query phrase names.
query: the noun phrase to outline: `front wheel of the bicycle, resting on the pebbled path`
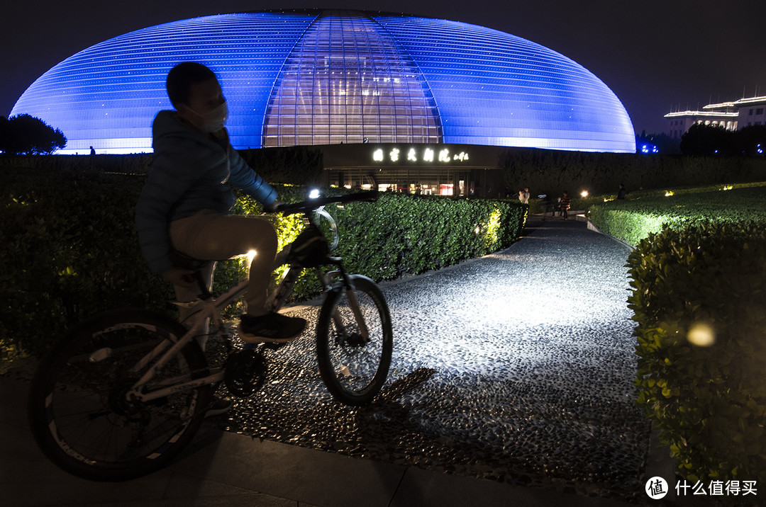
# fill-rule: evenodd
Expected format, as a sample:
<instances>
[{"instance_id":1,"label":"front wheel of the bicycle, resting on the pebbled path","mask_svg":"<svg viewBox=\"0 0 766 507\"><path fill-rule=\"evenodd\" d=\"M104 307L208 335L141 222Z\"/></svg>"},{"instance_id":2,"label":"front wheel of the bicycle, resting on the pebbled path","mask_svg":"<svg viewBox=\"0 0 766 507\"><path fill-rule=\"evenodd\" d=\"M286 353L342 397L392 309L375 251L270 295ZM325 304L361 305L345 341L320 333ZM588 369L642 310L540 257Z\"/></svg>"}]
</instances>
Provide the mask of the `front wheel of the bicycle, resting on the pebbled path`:
<instances>
[{"instance_id":1,"label":"front wheel of the bicycle, resting on the pebbled path","mask_svg":"<svg viewBox=\"0 0 766 507\"><path fill-rule=\"evenodd\" d=\"M365 405L381 391L388 377L393 331L388 304L378 286L362 275L351 275L369 341L362 343L345 287L327 294L316 324L316 356L327 389L345 405ZM339 327L333 315L342 321Z\"/></svg>"}]
</instances>

